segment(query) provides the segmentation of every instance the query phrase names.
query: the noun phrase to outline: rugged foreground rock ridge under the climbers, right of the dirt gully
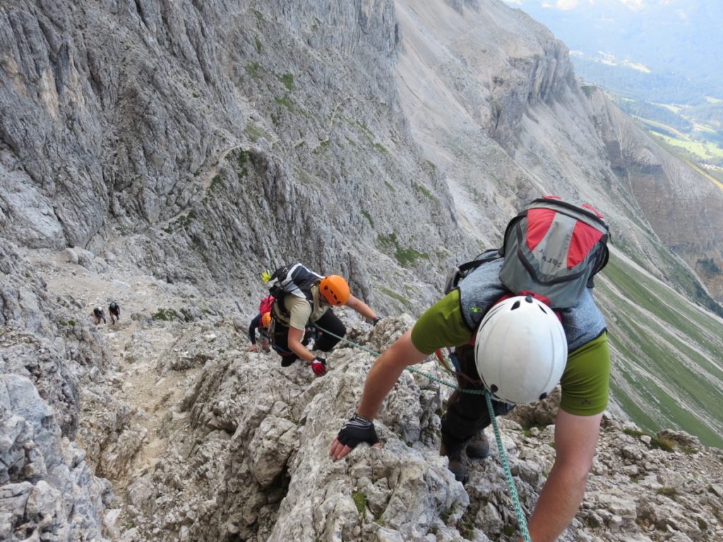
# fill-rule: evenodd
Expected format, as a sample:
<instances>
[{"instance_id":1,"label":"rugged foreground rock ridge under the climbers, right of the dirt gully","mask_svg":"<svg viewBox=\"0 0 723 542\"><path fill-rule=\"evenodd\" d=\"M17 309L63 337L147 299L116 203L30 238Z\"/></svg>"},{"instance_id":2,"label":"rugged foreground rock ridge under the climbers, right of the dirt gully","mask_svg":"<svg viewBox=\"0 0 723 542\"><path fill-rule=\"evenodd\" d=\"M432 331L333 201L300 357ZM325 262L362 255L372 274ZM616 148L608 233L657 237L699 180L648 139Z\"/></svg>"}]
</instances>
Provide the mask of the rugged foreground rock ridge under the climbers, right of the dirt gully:
<instances>
[{"instance_id":1,"label":"rugged foreground rock ridge under the climbers, right of the dirt gully","mask_svg":"<svg viewBox=\"0 0 723 542\"><path fill-rule=\"evenodd\" d=\"M353 340L383 350L409 324L355 327ZM223 327L216 329L220 340ZM331 440L373 360L340 348L329 374L314 379L305 365L282 369L273 354L215 356L169 412L169 423L187 423L172 431L168 455L128 486L121 517L135 527L121 539L507 539L515 516L498 453L472 461L464 486L438 455L442 401L451 390L434 379L403 374L377 420L382 449L362 446L330 460ZM418 369L450 382L435 361ZM525 510L554 461L555 400L500 421ZM491 429L488 436L494 443ZM586 499L561 540L716 540L723 534L722 459L689 434L646 434L608 416Z\"/></svg>"}]
</instances>

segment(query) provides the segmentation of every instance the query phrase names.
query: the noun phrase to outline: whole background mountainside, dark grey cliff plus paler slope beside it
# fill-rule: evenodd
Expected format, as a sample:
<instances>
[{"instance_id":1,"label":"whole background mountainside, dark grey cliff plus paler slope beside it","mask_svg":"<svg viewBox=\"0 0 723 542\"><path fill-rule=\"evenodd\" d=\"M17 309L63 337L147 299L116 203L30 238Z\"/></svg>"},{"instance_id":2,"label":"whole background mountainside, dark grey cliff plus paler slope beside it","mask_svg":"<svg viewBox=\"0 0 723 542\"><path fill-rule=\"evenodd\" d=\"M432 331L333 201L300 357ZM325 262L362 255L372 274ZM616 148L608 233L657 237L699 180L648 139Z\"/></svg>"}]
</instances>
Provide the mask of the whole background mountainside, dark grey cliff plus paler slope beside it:
<instances>
[{"instance_id":1,"label":"whole background mountainside, dark grey cliff plus paler slope beside it","mask_svg":"<svg viewBox=\"0 0 723 542\"><path fill-rule=\"evenodd\" d=\"M419 310L450 257L497 246L552 192L596 202L630 244L719 257L716 187L583 93L562 43L518 10L80 5L0 9L0 221L22 246L208 293L304 259ZM651 199L680 192L665 212ZM401 279L401 299L374 288Z\"/></svg>"}]
</instances>

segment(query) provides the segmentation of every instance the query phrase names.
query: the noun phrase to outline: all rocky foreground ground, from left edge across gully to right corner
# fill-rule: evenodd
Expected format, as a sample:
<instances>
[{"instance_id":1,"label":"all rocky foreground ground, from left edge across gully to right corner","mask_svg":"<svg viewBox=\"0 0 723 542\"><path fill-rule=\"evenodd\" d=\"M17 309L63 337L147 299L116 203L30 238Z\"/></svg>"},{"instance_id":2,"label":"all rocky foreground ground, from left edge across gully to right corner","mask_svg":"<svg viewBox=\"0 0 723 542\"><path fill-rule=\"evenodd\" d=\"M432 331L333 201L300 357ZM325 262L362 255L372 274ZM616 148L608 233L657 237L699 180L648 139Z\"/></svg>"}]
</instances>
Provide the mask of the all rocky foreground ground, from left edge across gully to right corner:
<instances>
[{"instance_id":1,"label":"all rocky foreground ground, from left edge across gully to right corner","mask_svg":"<svg viewBox=\"0 0 723 542\"><path fill-rule=\"evenodd\" d=\"M464 485L438 455L440 415L451 388L440 384L450 379L436 361L416 368L434 379L405 372L385 401L377 421L382 449L362 446L337 463L328 457L333 436L359 401L373 353L401 335L411 317L371 327L339 310L349 340L363 348L342 344L328 356L329 374L316 379L306 365L284 369L274 353L247 353L248 321L234 314L233 299L204 298L189 285L103 267L84 254L74 249L31 260L15 252L6 267L27 272L38 298L66 300L69 308L60 304L56 316L75 322L60 327L85 330L88 346L106 352L103 366L64 360L80 397L56 399L52 407L33 392L41 384L6 375L20 379L23 391L16 395L35 397L36 405L30 416L17 401L3 403L12 412L3 418L11 421L3 422L5 434L12 435L3 461L16 465L7 469L15 478L2 486L14 496L0 501L9 540L20 539L21 526L22 533L51 539L52 532L57 539L70 533L69 539L127 542L486 541L513 532L498 453L472 461ZM2 276L9 281L13 273ZM87 309L109 288L121 303L121 321L93 327ZM59 336L56 344L72 344L74 336ZM25 337L43 338L27 329L9 333L3 352ZM46 372L49 378L54 371ZM526 513L554 460L555 400L518 407L500 420ZM70 408L80 416L75 442L61 437L54 421L56 412ZM32 434L20 430L21 417L35 428ZM491 431L488 436L494 439ZM646 433L609 415L586 500L561 540L714 541L722 534L721 460L719 450L690 434ZM68 470L69 479L51 476L57 468ZM59 483L79 486L68 493L82 517L59 512L70 498L51 491ZM27 504L32 494L45 499L37 514L35 504ZM69 531L66 524L78 526Z\"/></svg>"}]
</instances>

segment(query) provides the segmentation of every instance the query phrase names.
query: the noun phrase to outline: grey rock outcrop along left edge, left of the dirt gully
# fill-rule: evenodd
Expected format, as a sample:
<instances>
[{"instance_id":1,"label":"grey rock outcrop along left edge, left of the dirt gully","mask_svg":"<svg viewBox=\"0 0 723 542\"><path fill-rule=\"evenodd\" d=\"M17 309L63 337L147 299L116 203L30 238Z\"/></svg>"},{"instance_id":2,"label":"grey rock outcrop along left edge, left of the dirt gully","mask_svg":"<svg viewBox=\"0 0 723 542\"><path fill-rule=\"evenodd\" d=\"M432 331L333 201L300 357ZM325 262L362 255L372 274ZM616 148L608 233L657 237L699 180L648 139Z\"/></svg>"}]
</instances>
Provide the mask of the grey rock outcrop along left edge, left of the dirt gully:
<instances>
[{"instance_id":1,"label":"grey rock outcrop along left edge, left of the dirt gully","mask_svg":"<svg viewBox=\"0 0 723 542\"><path fill-rule=\"evenodd\" d=\"M111 484L77 443L80 390L108 369L108 350L74 298L48 294L12 244L0 248L0 271L0 538L108 540Z\"/></svg>"}]
</instances>

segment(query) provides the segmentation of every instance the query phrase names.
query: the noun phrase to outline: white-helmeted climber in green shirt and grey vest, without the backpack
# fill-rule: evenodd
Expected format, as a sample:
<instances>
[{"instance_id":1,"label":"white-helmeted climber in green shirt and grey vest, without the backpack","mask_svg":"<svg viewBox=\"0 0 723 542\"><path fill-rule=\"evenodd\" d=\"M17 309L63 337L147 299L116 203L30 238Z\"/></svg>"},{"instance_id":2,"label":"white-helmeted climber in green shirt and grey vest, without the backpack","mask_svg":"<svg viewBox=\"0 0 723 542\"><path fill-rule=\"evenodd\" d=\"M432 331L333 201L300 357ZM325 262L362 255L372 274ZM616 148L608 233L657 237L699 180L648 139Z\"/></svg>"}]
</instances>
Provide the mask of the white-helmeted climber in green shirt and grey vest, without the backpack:
<instances>
[{"instance_id":1,"label":"white-helmeted climber in green shirt and grey vest, without the backpack","mask_svg":"<svg viewBox=\"0 0 723 542\"><path fill-rule=\"evenodd\" d=\"M529 520L532 540L554 541L582 502L607 407L607 330L591 288L583 288L575 306L552 311L532 296L507 291L499 277L505 258L496 256L470 272L377 358L359 408L334 439L330 455L341 459L360 442L380 447L372 421L382 401L407 366L440 348L455 347L460 387L492 392L496 416L515 403L546 397L560 382L555 465ZM488 453L483 430L491 418L484 395L455 391L447 406L440 453L464 481L467 457Z\"/></svg>"}]
</instances>

